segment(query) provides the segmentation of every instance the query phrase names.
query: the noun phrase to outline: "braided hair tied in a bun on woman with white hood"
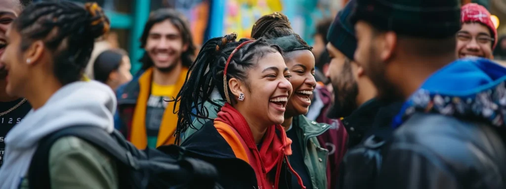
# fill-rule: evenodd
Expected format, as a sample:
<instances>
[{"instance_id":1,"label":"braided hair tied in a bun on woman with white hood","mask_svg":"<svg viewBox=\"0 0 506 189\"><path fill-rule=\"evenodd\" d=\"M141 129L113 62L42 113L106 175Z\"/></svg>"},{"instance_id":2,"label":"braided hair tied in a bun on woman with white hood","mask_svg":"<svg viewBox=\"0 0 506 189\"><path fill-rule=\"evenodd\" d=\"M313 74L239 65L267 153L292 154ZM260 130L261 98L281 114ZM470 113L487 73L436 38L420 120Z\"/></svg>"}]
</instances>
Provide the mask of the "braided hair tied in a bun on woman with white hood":
<instances>
[{"instance_id":1,"label":"braided hair tied in a bun on woman with white hood","mask_svg":"<svg viewBox=\"0 0 506 189\"><path fill-rule=\"evenodd\" d=\"M96 3L42 2L28 6L14 22L21 49L41 40L53 53L54 72L62 85L78 81L88 64L95 38L109 30L109 20Z\"/></svg>"}]
</instances>

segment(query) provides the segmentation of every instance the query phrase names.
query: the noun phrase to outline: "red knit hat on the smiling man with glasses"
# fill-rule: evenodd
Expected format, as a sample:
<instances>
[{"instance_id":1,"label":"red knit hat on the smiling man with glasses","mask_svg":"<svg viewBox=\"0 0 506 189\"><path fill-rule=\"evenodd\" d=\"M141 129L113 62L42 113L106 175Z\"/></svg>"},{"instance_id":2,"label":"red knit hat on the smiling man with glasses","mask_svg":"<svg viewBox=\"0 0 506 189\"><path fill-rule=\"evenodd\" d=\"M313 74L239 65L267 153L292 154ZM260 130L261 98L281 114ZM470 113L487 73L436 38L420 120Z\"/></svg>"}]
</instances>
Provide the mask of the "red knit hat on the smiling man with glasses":
<instances>
[{"instance_id":1,"label":"red knit hat on the smiling man with glasses","mask_svg":"<svg viewBox=\"0 0 506 189\"><path fill-rule=\"evenodd\" d=\"M494 23L490 18L490 13L485 9L485 7L471 3L462 6L462 11L460 14L460 23L469 23L469 22L478 22L488 27L490 32L492 32L492 37L494 41L492 43L492 50L497 45L497 29L495 29Z\"/></svg>"}]
</instances>

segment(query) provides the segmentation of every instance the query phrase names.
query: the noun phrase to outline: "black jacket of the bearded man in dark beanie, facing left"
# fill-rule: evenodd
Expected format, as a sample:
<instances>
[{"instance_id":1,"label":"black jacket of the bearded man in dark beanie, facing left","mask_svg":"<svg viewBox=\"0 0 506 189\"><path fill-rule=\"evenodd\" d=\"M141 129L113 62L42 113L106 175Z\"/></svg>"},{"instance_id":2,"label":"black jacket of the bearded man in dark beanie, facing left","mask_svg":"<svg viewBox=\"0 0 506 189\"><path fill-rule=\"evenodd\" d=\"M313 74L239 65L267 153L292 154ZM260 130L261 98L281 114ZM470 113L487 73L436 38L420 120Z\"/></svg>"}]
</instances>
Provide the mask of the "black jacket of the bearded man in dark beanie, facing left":
<instances>
[{"instance_id":1,"label":"black jacket of the bearded man in dark beanie, facing left","mask_svg":"<svg viewBox=\"0 0 506 189\"><path fill-rule=\"evenodd\" d=\"M338 188L370 189L374 187L381 166L381 150L393 133L393 117L402 102L388 103L372 99L343 119L350 148L340 165Z\"/></svg>"}]
</instances>

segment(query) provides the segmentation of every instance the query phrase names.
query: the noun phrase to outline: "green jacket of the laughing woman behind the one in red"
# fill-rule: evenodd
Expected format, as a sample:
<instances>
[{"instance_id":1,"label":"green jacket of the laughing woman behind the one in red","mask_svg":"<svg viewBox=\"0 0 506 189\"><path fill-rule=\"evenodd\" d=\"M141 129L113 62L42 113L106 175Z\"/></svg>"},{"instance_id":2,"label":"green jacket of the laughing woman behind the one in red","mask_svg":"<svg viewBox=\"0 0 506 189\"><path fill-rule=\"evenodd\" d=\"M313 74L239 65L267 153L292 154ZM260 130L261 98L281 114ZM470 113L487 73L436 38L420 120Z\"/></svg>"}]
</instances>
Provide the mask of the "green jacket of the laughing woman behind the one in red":
<instances>
[{"instance_id":1,"label":"green jacket of the laughing woman behind the one in red","mask_svg":"<svg viewBox=\"0 0 506 189\"><path fill-rule=\"evenodd\" d=\"M224 102L220 100L215 100L214 102L220 105L224 104ZM216 106L210 102L204 102L204 107L209 112L209 118L214 119L217 117L217 112L215 111L217 108ZM181 141L184 142L185 139L190 137L198 129L202 128L206 121L209 120L195 118L195 120L193 120L193 125L196 129L188 128L188 130L183 134ZM292 125L292 129L297 130L299 141L304 141L304 144L299 145L302 147L305 146L305 148L301 149L306 149L304 154L304 163L306 164L309 175L311 176L313 188L326 189L328 150L321 147L316 137L329 130L330 125L309 120L304 115L293 117Z\"/></svg>"}]
</instances>

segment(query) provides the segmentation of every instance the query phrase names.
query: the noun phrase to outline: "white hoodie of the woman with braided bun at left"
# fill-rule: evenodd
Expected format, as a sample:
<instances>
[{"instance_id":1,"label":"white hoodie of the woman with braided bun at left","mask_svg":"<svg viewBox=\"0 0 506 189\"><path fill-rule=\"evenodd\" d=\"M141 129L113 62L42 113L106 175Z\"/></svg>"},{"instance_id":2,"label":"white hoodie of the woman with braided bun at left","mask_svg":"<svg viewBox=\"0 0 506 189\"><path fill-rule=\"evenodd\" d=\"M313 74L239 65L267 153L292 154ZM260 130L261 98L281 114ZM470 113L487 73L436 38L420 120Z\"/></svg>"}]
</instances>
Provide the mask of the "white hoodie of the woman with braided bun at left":
<instances>
[{"instance_id":1,"label":"white hoodie of the woman with braided bun at left","mask_svg":"<svg viewBox=\"0 0 506 189\"><path fill-rule=\"evenodd\" d=\"M116 110L114 92L96 81L74 82L56 91L44 106L30 110L5 140L0 188L15 189L26 175L40 139L77 125L99 127L112 133Z\"/></svg>"}]
</instances>

